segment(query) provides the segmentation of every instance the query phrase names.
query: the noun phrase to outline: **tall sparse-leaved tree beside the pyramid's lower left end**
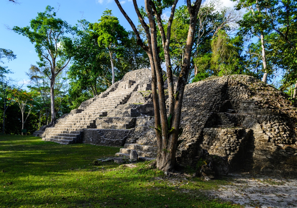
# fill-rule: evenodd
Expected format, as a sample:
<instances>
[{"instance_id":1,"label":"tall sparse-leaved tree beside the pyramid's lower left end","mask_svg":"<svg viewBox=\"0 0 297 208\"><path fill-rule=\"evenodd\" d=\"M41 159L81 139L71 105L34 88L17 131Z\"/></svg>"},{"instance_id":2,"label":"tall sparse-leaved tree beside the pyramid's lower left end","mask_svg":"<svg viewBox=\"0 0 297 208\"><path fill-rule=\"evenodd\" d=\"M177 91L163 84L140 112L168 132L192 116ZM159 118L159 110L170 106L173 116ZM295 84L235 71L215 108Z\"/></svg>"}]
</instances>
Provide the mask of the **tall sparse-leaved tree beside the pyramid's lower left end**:
<instances>
[{"instance_id":1,"label":"tall sparse-leaved tree beside the pyramid's lower left end","mask_svg":"<svg viewBox=\"0 0 297 208\"><path fill-rule=\"evenodd\" d=\"M13 27L13 31L28 37L39 56L40 67L45 67L45 74L50 79L50 111L51 125L55 122L54 85L56 76L67 66L73 55L72 39L67 35L74 35L72 28L66 21L56 18L53 7L47 6L45 12L38 12L32 19L30 26Z\"/></svg>"}]
</instances>

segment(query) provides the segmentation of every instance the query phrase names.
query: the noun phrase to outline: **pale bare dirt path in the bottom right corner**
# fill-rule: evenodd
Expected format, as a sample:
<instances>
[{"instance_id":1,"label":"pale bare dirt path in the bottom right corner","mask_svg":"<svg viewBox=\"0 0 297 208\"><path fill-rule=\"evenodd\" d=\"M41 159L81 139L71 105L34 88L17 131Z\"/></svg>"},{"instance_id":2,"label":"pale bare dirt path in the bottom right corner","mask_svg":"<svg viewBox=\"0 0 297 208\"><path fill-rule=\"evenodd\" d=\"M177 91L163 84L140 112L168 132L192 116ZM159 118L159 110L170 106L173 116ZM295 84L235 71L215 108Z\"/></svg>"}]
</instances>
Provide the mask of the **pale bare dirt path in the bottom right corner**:
<instances>
[{"instance_id":1,"label":"pale bare dirt path in the bottom right corner","mask_svg":"<svg viewBox=\"0 0 297 208\"><path fill-rule=\"evenodd\" d=\"M249 173L229 174L231 184L213 196L247 208L297 208L297 179Z\"/></svg>"}]
</instances>

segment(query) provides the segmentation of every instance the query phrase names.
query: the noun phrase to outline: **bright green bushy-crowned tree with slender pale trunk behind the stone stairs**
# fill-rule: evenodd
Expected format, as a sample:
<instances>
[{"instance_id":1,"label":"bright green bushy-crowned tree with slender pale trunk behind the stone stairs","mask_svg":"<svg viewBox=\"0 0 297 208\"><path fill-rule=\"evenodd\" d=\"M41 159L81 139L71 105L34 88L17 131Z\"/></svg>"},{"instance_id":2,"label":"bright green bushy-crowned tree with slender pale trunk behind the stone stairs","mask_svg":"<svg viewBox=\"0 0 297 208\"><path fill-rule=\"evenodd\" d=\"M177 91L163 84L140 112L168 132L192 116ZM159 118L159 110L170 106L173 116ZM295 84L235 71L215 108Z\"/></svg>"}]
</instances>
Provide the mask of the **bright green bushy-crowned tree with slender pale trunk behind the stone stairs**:
<instances>
[{"instance_id":1,"label":"bright green bushy-crowned tree with slender pale trunk behind the stone stairs","mask_svg":"<svg viewBox=\"0 0 297 208\"><path fill-rule=\"evenodd\" d=\"M90 27L98 36L99 46L108 49L113 84L115 76L113 59L118 48L127 40L128 32L120 25L118 18L112 15L111 10L105 10L98 21L90 24Z\"/></svg>"}]
</instances>

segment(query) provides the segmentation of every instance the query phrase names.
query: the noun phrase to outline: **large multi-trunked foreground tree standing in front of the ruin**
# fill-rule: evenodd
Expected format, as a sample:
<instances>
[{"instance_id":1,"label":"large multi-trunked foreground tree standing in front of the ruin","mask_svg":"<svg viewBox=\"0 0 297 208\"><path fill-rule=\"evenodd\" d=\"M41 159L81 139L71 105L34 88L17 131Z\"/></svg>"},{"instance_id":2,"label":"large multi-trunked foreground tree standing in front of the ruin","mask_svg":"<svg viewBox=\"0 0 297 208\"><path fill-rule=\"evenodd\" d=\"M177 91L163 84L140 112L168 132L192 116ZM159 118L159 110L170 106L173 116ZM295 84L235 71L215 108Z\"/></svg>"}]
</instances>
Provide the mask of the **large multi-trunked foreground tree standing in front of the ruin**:
<instances>
[{"instance_id":1,"label":"large multi-trunked foreground tree standing in front of the ruin","mask_svg":"<svg viewBox=\"0 0 297 208\"><path fill-rule=\"evenodd\" d=\"M194 1L193 4L187 0L187 8L190 14L189 29L187 34L187 44L185 47L183 66L179 74L176 91L174 93L173 86L173 72L170 62L170 37L171 26L174 18L174 12L178 0L145 0L145 12L140 12L136 0L133 0L135 11L138 15L139 21L146 32L148 45L145 45L141 40L139 31L131 21L127 13L121 7L118 0L115 0L120 11L129 22L136 37L137 43L147 52L152 71L152 96L154 102L155 113L155 130L157 135L157 167L162 170L170 170L176 164L176 148L178 135L180 133L180 119L181 106L184 95L184 88L188 81L190 71L190 59L192 54L192 47L194 44L194 37L196 31L197 15L200 9L201 0ZM165 33L164 25L162 23L162 11L165 8L171 8L170 17L167 23L167 32ZM147 16L149 25L145 22L142 14ZM167 70L167 82L169 91L169 116L167 116L165 94L164 94L164 80L161 68L161 61L159 59L159 48L157 40L157 27L159 29L162 47L164 50L164 59ZM158 93L157 93L158 86Z\"/></svg>"}]
</instances>

